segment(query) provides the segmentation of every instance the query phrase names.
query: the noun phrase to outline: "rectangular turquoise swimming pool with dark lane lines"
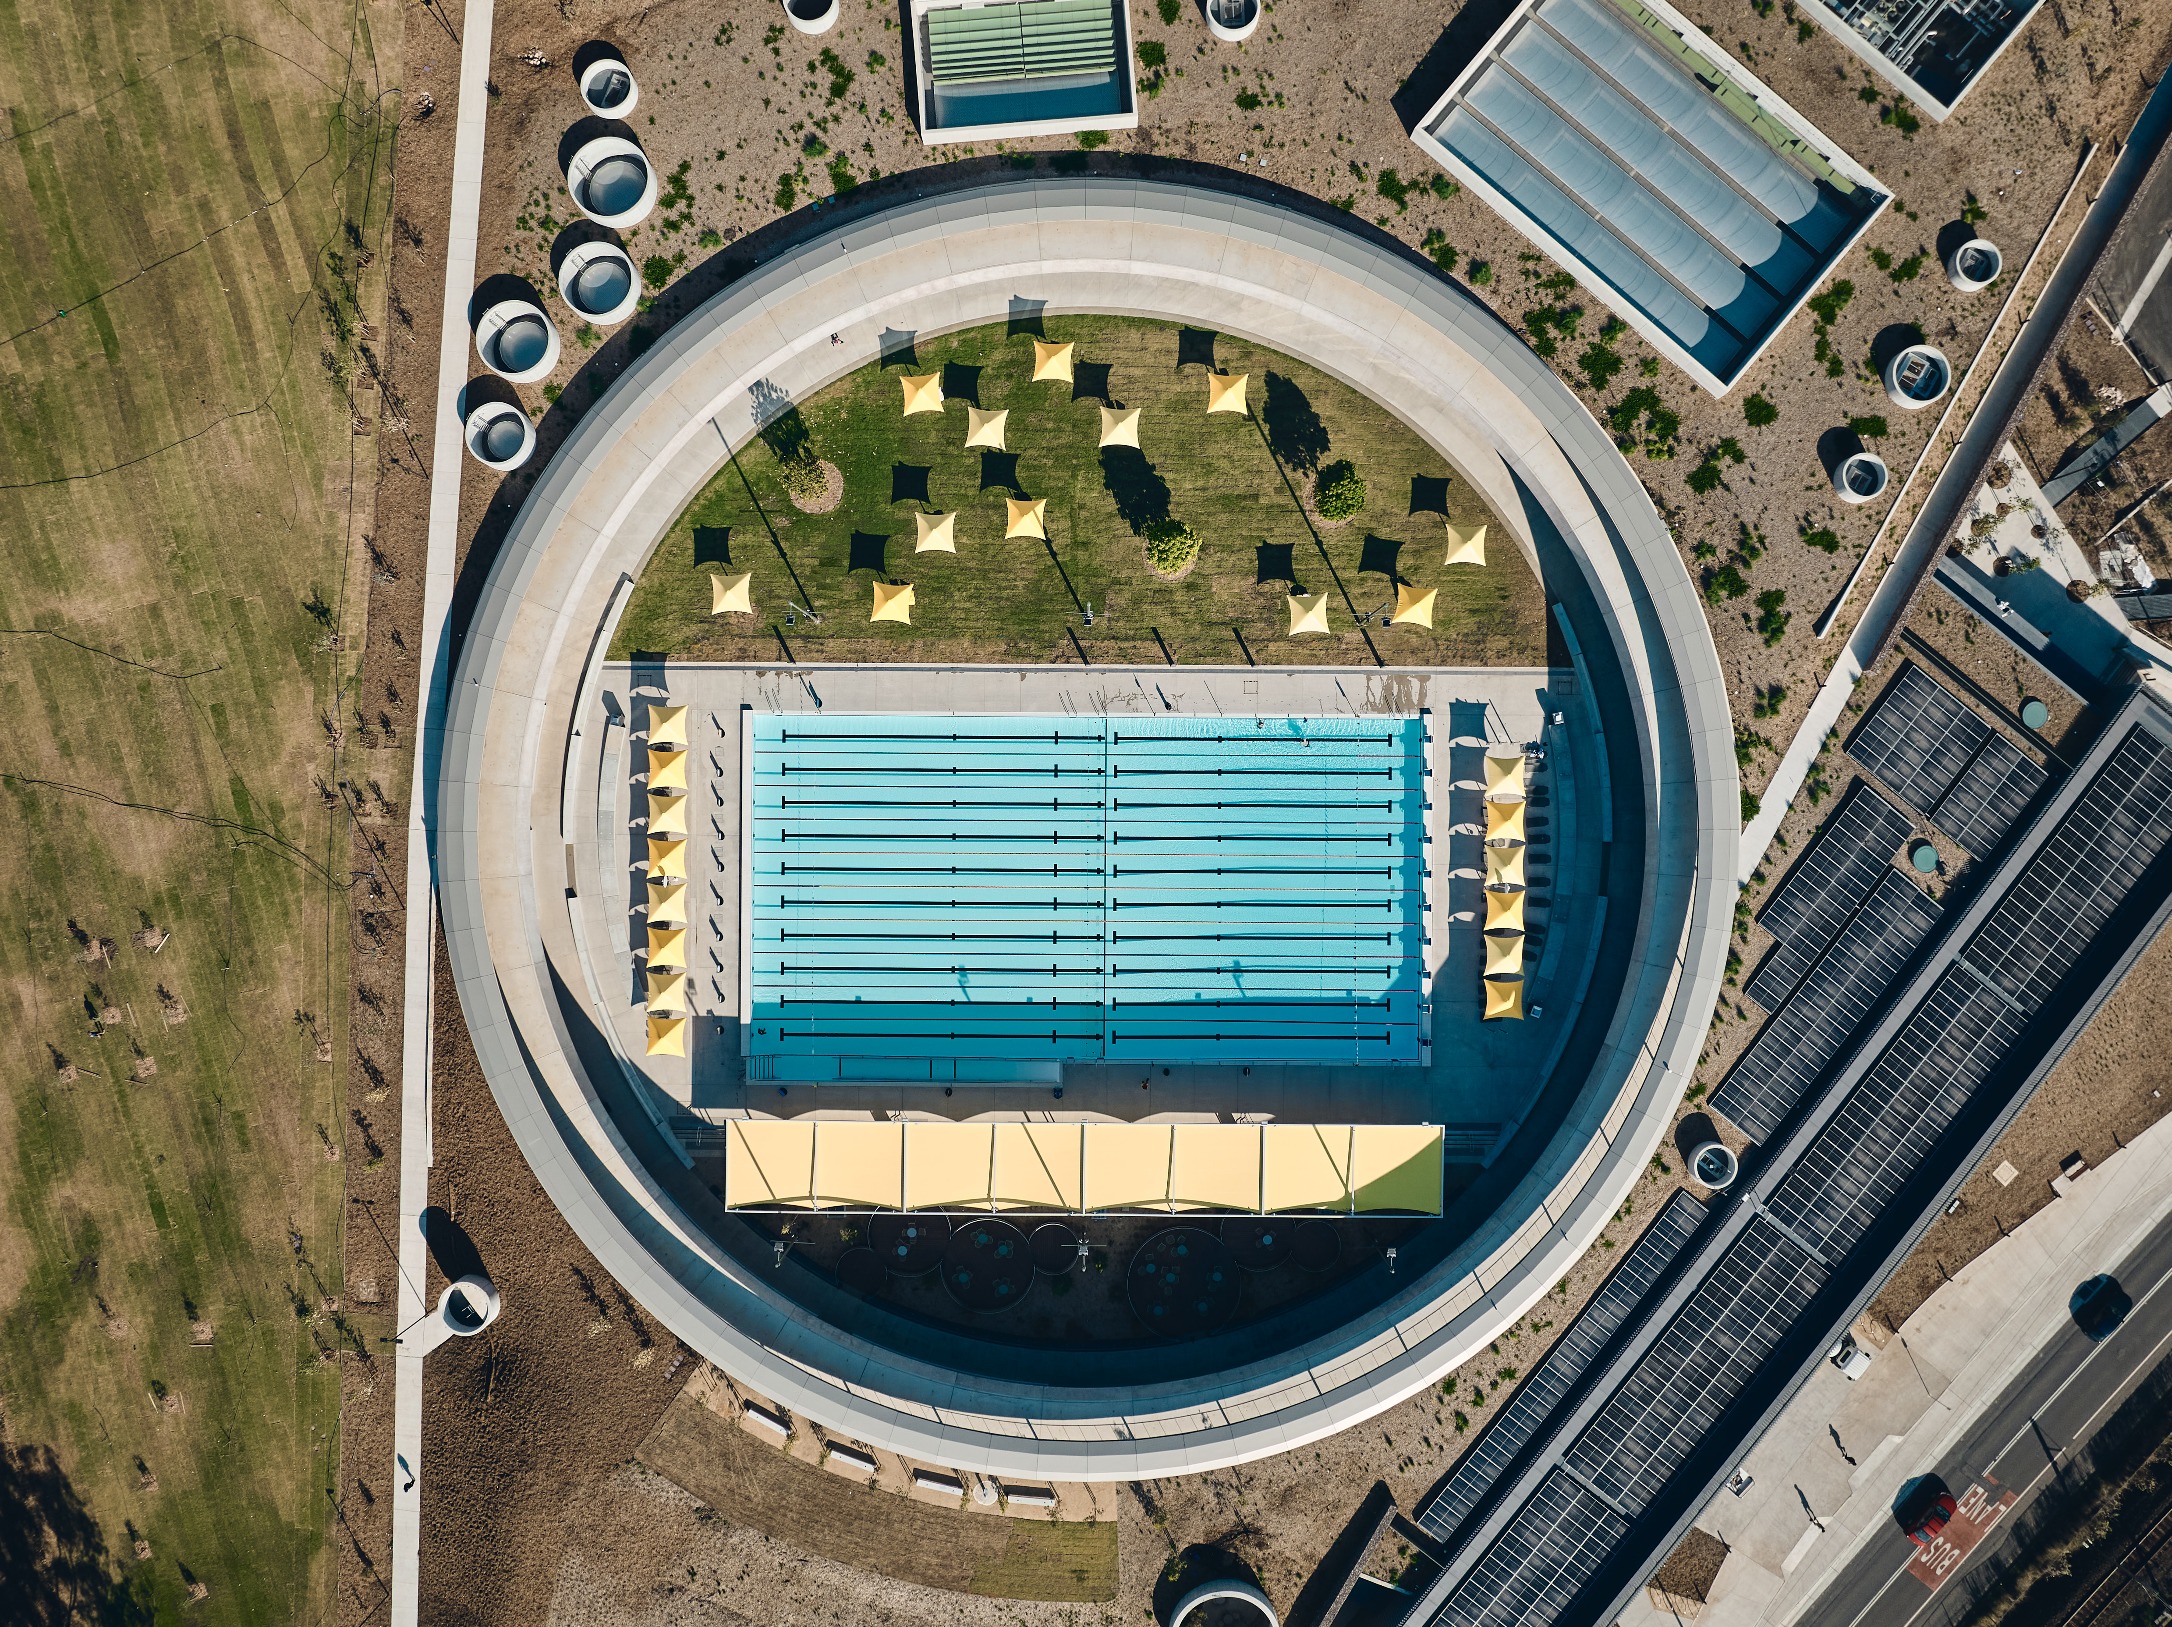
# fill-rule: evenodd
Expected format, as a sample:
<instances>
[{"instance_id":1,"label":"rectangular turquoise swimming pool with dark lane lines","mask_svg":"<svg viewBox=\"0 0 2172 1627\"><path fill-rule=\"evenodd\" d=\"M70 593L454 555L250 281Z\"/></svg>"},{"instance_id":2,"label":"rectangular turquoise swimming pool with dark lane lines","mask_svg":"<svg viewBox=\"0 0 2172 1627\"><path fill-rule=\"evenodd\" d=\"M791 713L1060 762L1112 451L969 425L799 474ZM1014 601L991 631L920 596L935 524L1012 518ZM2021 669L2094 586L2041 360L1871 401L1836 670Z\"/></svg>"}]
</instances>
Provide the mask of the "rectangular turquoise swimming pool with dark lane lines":
<instances>
[{"instance_id":1,"label":"rectangular turquoise swimming pool with dark lane lines","mask_svg":"<svg viewBox=\"0 0 2172 1627\"><path fill-rule=\"evenodd\" d=\"M758 1080L1425 1060L1425 717L747 732Z\"/></svg>"}]
</instances>

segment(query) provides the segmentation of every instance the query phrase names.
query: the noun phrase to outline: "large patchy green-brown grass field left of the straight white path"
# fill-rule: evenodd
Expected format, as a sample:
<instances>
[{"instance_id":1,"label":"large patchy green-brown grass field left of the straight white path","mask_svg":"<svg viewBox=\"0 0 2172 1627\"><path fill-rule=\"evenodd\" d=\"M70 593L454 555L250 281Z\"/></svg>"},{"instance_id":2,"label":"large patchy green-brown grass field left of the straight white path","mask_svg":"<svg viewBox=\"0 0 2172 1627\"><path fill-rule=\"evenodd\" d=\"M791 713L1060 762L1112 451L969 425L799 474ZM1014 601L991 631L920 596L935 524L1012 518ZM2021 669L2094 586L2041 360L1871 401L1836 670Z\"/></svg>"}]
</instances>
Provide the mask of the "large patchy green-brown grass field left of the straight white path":
<instances>
[{"instance_id":1,"label":"large patchy green-brown grass field left of the straight white path","mask_svg":"<svg viewBox=\"0 0 2172 1627\"><path fill-rule=\"evenodd\" d=\"M7 1623L337 1614L363 1334L317 786L387 773L328 721L397 39L330 0L0 13Z\"/></svg>"}]
</instances>

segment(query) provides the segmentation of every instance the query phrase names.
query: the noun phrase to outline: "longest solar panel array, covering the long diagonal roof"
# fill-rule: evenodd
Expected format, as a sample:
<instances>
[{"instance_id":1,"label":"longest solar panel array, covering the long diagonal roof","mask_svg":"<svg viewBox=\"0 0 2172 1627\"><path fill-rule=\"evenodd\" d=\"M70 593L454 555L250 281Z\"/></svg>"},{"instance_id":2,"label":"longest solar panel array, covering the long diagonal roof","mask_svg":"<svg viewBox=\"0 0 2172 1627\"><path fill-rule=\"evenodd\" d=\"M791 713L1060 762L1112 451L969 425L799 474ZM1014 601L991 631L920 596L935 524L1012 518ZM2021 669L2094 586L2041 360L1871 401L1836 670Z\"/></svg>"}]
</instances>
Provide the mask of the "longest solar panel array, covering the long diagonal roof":
<instances>
[{"instance_id":1,"label":"longest solar panel array, covering the long diagonal roof","mask_svg":"<svg viewBox=\"0 0 2172 1627\"><path fill-rule=\"evenodd\" d=\"M2168 847L2172 747L2137 723L1436 1623L1562 1616Z\"/></svg>"}]
</instances>

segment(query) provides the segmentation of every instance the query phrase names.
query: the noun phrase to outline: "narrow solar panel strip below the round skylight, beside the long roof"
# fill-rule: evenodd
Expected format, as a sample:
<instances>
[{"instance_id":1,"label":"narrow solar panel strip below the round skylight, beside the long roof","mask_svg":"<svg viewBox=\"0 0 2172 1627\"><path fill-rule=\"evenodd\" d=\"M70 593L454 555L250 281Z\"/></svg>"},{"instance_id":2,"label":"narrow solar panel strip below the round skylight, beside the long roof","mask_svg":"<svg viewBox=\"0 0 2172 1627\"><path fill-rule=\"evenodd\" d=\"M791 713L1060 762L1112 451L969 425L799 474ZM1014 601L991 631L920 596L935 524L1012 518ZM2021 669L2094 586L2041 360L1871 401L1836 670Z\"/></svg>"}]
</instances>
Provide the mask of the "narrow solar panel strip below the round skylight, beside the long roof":
<instances>
[{"instance_id":1,"label":"narrow solar panel strip below the round skylight, beside the long roof","mask_svg":"<svg viewBox=\"0 0 2172 1627\"><path fill-rule=\"evenodd\" d=\"M1683 1247L1705 1219L1705 1206L1685 1190L1677 1190L1653 1216L1644 1234L1629 1245L1629 1253L1614 1266L1612 1275L1590 1297L1577 1319L1568 1323L1553 1349L1538 1364L1510 1403L1494 1414L1479 1438L1464 1453L1431 1497L1418 1503L1418 1525L1442 1544L1453 1542L1455 1531L1470 1518L1473 1510L1492 1490L1494 1481L1507 1473L1516 1455L1529 1447L1546 1427L1546 1418L1577 1382L1592 1371L1607 1342L1629 1323L1644 1295L1681 1258Z\"/></svg>"}]
</instances>

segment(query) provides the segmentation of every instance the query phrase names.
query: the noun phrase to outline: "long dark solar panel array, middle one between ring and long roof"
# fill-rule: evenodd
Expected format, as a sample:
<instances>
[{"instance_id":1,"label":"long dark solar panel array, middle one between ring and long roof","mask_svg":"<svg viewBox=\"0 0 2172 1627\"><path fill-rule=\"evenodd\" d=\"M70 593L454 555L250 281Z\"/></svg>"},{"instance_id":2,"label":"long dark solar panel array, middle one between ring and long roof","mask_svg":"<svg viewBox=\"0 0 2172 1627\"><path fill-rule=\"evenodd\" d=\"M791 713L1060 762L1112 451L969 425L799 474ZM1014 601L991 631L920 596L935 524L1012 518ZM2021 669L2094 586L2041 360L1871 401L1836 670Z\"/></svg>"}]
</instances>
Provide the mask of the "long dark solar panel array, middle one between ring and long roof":
<instances>
[{"instance_id":1,"label":"long dark solar panel array, middle one between ring and long roof","mask_svg":"<svg viewBox=\"0 0 2172 1627\"><path fill-rule=\"evenodd\" d=\"M1816 971L1729 1069L1712 1106L1751 1140L1770 1140L1894 986L1940 915L1935 899L1887 865ZM1757 993L1757 978L1751 997L1770 1006Z\"/></svg>"}]
</instances>

